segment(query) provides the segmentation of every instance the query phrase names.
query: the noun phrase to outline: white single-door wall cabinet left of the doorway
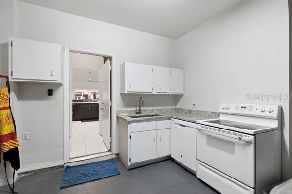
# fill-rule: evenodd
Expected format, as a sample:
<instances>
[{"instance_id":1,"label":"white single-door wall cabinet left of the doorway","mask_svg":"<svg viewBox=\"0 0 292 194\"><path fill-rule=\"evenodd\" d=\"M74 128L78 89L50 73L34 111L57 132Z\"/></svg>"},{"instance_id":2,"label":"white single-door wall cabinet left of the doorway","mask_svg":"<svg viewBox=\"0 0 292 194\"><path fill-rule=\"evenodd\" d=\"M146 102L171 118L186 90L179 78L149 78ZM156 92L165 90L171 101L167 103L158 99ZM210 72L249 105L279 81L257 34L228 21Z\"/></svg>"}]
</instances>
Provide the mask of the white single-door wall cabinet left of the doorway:
<instances>
[{"instance_id":1,"label":"white single-door wall cabinet left of the doorway","mask_svg":"<svg viewBox=\"0 0 292 194\"><path fill-rule=\"evenodd\" d=\"M11 81L62 83L62 60L62 45L9 38Z\"/></svg>"}]
</instances>

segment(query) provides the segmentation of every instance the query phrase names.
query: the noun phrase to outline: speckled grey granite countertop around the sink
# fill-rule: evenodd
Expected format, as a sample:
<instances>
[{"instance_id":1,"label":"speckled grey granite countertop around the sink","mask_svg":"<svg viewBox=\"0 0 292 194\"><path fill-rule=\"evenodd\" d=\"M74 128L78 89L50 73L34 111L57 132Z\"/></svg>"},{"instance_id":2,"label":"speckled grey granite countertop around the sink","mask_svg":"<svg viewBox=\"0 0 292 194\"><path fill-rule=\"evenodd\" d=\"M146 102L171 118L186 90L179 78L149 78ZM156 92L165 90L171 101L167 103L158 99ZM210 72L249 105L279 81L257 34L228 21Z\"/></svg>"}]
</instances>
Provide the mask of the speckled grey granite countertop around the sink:
<instances>
[{"instance_id":1,"label":"speckled grey granite countertop around the sink","mask_svg":"<svg viewBox=\"0 0 292 194\"><path fill-rule=\"evenodd\" d=\"M124 115L125 113L127 115ZM142 117L142 118L130 117L132 115L149 115L149 114L158 114L161 116ZM135 114L135 110L118 110L117 117L125 119L128 122L175 118L175 119L180 119L180 120L196 123L198 120L219 118L219 113L209 112L209 111L200 111L200 110L181 109L181 108L166 108L166 109L142 109L142 114Z\"/></svg>"}]
</instances>

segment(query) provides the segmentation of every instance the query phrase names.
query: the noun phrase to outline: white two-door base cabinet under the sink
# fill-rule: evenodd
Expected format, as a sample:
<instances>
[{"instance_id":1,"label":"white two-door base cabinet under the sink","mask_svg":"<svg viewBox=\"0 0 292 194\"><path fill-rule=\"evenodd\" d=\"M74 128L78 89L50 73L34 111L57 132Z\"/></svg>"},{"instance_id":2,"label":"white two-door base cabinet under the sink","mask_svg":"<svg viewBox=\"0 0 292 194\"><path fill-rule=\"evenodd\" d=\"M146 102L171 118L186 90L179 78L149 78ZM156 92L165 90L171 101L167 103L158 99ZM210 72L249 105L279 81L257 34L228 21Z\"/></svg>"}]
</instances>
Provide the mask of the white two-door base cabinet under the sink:
<instances>
[{"instance_id":1,"label":"white two-door base cabinet under the sink","mask_svg":"<svg viewBox=\"0 0 292 194\"><path fill-rule=\"evenodd\" d=\"M171 120L118 122L119 157L127 168L170 157Z\"/></svg>"}]
</instances>

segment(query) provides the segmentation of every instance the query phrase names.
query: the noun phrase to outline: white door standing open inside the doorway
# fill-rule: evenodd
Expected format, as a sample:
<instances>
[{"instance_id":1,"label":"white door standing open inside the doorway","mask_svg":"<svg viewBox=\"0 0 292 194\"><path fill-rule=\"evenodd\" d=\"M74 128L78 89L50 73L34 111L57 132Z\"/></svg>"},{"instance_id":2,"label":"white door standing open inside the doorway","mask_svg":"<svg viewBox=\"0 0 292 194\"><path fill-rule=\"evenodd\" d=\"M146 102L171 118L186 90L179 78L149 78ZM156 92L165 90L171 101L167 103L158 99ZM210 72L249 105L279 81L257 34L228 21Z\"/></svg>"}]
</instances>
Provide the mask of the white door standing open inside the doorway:
<instances>
[{"instance_id":1,"label":"white door standing open inside the doorway","mask_svg":"<svg viewBox=\"0 0 292 194\"><path fill-rule=\"evenodd\" d=\"M99 70L99 132L103 141L110 150L111 129L110 129L110 60L108 59Z\"/></svg>"}]
</instances>

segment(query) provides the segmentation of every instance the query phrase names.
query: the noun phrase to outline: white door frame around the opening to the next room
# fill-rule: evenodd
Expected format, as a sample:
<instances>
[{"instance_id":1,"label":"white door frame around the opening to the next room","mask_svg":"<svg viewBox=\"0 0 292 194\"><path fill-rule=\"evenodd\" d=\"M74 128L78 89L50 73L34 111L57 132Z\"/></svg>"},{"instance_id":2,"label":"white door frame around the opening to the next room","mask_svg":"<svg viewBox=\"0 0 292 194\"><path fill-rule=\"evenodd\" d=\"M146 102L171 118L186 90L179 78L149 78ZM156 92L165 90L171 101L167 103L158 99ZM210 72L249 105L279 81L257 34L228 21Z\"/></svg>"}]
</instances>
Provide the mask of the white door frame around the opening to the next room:
<instances>
[{"instance_id":1,"label":"white door frame around the opening to the next room","mask_svg":"<svg viewBox=\"0 0 292 194\"><path fill-rule=\"evenodd\" d=\"M69 122L70 122L70 107L69 107L69 95L70 95L70 64L69 64L69 52L76 52L81 54L90 54L90 55L97 55L103 57L110 57L111 58L111 150L113 153L116 153L117 142L116 140L116 88L117 88L117 81L116 81L116 55L110 52L98 51L98 50L91 50L91 49L82 49L76 47L64 47L64 163L69 162L70 157L70 140L69 140ZM114 78L114 79L113 79Z\"/></svg>"}]
</instances>

